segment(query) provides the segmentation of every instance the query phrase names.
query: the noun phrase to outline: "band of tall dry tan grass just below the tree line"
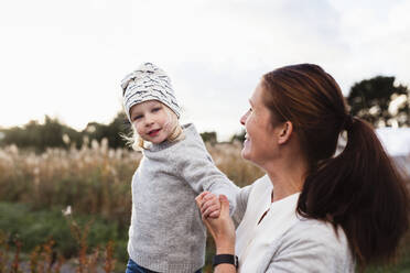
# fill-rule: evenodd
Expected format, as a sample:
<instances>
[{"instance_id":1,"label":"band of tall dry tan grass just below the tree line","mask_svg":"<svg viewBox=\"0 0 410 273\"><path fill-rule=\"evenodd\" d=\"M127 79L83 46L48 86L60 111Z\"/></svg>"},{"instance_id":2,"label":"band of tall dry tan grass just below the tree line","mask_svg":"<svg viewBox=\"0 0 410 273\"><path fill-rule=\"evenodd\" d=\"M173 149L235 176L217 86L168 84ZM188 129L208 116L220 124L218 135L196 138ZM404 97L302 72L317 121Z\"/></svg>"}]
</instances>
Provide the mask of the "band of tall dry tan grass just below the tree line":
<instances>
[{"instance_id":1,"label":"band of tall dry tan grass just below the tree line","mask_svg":"<svg viewBox=\"0 0 410 273\"><path fill-rule=\"evenodd\" d=\"M240 144L207 145L216 165L244 186L262 172L240 157ZM48 149L42 154L0 150L0 199L31 204L34 209L72 206L78 214L98 214L129 222L131 177L141 153L109 149L107 140L93 141L80 150Z\"/></svg>"}]
</instances>

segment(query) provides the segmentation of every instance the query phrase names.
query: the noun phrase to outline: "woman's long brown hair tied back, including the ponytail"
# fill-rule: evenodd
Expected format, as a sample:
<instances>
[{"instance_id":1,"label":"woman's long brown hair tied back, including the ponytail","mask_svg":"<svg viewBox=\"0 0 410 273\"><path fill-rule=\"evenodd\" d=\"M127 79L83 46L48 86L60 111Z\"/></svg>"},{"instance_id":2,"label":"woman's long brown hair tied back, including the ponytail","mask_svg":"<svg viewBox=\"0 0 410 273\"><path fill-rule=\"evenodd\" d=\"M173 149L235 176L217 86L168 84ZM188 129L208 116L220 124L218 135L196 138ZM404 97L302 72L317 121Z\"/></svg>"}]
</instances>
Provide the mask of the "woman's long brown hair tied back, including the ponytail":
<instances>
[{"instance_id":1,"label":"woman's long brown hair tied back, including the ponytail","mask_svg":"<svg viewBox=\"0 0 410 273\"><path fill-rule=\"evenodd\" d=\"M409 228L409 196L373 127L348 113L339 86L317 65L281 67L262 83L266 106L292 122L310 164L296 211L342 227L360 269L391 261Z\"/></svg>"}]
</instances>

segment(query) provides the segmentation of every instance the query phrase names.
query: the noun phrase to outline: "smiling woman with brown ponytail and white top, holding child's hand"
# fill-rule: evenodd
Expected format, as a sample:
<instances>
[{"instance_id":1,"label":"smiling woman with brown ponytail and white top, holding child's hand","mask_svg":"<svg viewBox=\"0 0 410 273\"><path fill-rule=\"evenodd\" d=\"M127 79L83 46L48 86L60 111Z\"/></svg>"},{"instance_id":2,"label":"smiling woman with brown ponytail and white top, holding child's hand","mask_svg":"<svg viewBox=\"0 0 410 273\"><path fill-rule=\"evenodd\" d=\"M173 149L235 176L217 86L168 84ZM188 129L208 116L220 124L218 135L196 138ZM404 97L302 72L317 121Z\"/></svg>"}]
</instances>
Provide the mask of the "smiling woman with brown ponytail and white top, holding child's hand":
<instances>
[{"instance_id":1,"label":"smiling woman with brown ponytail and white top, holding child's hand","mask_svg":"<svg viewBox=\"0 0 410 273\"><path fill-rule=\"evenodd\" d=\"M215 272L236 272L234 254L240 272L354 272L391 261L409 226L404 181L332 76L311 64L266 74L240 122L241 155L267 175L238 195L236 236L224 196L218 219L207 218L207 193L196 198Z\"/></svg>"}]
</instances>

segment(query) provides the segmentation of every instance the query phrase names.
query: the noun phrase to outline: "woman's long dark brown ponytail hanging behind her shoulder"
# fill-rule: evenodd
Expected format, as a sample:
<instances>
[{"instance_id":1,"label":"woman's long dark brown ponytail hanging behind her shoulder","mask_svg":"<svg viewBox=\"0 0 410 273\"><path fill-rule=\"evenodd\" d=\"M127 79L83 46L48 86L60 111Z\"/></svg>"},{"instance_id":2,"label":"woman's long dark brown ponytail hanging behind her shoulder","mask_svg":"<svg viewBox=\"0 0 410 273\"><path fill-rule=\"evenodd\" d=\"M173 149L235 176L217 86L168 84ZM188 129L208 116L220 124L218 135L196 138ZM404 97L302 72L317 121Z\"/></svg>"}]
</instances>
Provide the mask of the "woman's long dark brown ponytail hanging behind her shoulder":
<instances>
[{"instance_id":1,"label":"woman's long dark brown ponytail hanging behind her shoulder","mask_svg":"<svg viewBox=\"0 0 410 273\"><path fill-rule=\"evenodd\" d=\"M344 122L344 151L312 167L296 211L331 222L335 229L342 227L364 269L396 256L409 228L409 196L402 174L371 125L358 118L348 119Z\"/></svg>"}]
</instances>

